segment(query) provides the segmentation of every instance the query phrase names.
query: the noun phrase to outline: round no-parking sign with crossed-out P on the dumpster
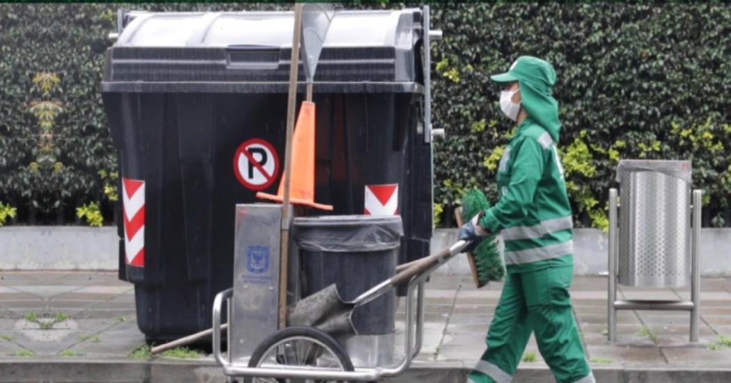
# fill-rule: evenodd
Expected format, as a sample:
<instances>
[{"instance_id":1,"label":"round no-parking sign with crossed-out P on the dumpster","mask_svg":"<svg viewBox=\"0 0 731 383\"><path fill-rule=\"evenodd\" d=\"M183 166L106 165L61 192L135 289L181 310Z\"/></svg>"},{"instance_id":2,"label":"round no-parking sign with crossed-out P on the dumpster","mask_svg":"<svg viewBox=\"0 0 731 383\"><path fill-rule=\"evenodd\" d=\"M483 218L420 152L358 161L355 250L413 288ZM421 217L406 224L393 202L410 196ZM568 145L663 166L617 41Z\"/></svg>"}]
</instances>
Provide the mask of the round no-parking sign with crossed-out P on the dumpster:
<instances>
[{"instance_id":1,"label":"round no-parking sign with crossed-out P on the dumpster","mask_svg":"<svg viewBox=\"0 0 731 383\"><path fill-rule=\"evenodd\" d=\"M249 139L240 144L233 155L233 172L247 189L264 190L276 179L279 156L269 142Z\"/></svg>"}]
</instances>

